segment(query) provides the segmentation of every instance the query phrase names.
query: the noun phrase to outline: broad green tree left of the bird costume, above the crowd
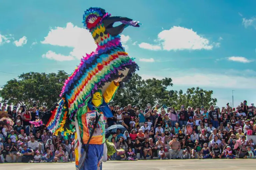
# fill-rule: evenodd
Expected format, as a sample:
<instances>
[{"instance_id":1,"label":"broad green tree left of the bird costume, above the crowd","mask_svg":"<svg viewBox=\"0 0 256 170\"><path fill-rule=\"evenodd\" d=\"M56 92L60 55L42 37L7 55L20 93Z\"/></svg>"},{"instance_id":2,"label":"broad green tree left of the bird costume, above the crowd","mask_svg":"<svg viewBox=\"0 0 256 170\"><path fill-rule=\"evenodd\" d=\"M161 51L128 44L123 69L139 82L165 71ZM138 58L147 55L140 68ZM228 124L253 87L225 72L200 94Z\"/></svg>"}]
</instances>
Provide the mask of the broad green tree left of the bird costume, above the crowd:
<instances>
[{"instance_id":1,"label":"broad green tree left of the bird costume, above the crowd","mask_svg":"<svg viewBox=\"0 0 256 170\"><path fill-rule=\"evenodd\" d=\"M23 73L19 79L8 81L0 91L2 102L13 105L51 107L59 98L64 81L68 78L65 71L58 73Z\"/></svg>"}]
</instances>

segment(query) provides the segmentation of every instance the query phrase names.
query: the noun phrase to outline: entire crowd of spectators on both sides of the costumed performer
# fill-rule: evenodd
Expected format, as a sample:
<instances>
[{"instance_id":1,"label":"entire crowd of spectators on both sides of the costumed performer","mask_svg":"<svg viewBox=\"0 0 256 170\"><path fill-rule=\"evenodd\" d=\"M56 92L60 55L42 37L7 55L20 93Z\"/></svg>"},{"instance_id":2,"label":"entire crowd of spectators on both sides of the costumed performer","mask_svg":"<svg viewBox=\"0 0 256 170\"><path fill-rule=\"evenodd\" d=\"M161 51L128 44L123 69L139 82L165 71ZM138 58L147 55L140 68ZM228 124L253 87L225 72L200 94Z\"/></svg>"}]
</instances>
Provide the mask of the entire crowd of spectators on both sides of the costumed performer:
<instances>
[{"instance_id":1,"label":"entire crowd of spectators on both sides of the costumed performer","mask_svg":"<svg viewBox=\"0 0 256 170\"><path fill-rule=\"evenodd\" d=\"M142 109L128 105L109 106L113 117L106 129L122 125L108 137L117 149L109 160L255 158L252 138L256 134L256 107L244 101L237 108L181 106ZM74 161L74 134L68 140L51 134L46 126L34 127L45 106L6 106L0 103L0 119L10 118L14 125L0 121L0 162ZM9 157L9 159L8 159Z\"/></svg>"}]
</instances>

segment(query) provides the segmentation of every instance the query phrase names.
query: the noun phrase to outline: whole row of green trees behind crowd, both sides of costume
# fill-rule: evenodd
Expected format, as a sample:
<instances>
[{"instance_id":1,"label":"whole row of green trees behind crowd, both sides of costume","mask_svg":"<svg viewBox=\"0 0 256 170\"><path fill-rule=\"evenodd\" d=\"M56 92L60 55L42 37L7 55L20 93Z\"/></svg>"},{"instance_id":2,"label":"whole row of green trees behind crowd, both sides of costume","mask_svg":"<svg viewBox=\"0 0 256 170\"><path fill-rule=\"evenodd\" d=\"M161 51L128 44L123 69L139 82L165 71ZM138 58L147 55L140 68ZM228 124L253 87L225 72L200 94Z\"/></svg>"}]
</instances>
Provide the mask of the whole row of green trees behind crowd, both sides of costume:
<instances>
[{"instance_id":1,"label":"whole row of green trees behind crowd, both sides of costume","mask_svg":"<svg viewBox=\"0 0 256 170\"><path fill-rule=\"evenodd\" d=\"M23 73L19 79L9 80L0 90L2 102L12 105L38 106L46 105L51 107L58 99L64 81L68 78L65 71L58 73ZM156 104L167 105L179 109L181 105L185 107L201 106L201 93L203 105L209 108L216 105L217 99L212 98L213 91L203 90L199 87L189 88L185 93L182 90L170 90L171 78L158 80L155 78L143 80L138 74L134 74L130 82L124 83L113 101L114 105L127 106L132 104L145 108L148 103L152 106Z\"/></svg>"}]
</instances>

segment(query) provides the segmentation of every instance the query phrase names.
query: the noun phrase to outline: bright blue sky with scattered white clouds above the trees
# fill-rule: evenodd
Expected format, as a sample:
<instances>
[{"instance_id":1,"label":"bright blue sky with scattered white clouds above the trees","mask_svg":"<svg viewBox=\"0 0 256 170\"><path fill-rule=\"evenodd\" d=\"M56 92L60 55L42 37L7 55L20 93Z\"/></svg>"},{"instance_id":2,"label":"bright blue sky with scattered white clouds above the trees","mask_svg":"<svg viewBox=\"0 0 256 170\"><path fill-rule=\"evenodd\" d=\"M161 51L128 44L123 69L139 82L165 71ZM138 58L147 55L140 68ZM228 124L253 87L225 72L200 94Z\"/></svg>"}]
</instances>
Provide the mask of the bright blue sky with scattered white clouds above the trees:
<instances>
[{"instance_id":1,"label":"bright blue sky with scattered white clouds above the trees","mask_svg":"<svg viewBox=\"0 0 256 170\"><path fill-rule=\"evenodd\" d=\"M213 90L218 106L256 103L256 1L1 1L0 85L22 72L71 73L96 46L87 8L140 21L122 33L143 78L171 77L170 89ZM10 72L16 74L8 74Z\"/></svg>"}]
</instances>

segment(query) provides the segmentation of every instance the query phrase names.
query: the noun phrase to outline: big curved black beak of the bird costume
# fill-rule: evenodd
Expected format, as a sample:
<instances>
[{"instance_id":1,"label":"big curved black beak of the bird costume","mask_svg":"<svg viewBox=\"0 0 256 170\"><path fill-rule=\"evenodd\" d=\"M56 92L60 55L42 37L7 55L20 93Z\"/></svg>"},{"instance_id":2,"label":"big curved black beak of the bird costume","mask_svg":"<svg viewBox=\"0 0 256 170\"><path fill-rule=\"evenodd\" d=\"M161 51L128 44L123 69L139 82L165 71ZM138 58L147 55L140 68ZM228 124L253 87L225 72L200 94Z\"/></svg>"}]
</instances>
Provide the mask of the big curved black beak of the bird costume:
<instances>
[{"instance_id":1,"label":"big curved black beak of the bird costume","mask_svg":"<svg viewBox=\"0 0 256 170\"><path fill-rule=\"evenodd\" d=\"M123 30L128 26L125 24L121 24L117 27L113 27L113 24L115 22L119 21L132 21L130 18L126 17L108 17L102 21L104 24L106 31L111 35L111 36L117 36L123 32Z\"/></svg>"}]
</instances>

